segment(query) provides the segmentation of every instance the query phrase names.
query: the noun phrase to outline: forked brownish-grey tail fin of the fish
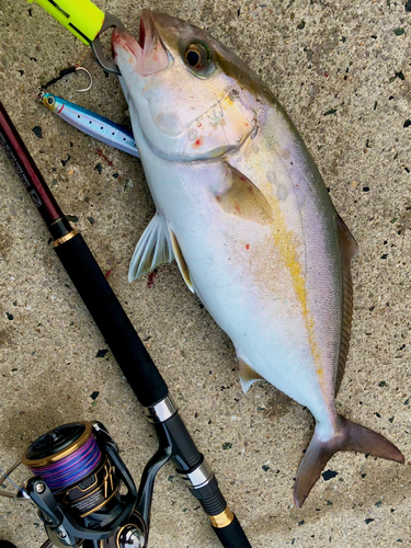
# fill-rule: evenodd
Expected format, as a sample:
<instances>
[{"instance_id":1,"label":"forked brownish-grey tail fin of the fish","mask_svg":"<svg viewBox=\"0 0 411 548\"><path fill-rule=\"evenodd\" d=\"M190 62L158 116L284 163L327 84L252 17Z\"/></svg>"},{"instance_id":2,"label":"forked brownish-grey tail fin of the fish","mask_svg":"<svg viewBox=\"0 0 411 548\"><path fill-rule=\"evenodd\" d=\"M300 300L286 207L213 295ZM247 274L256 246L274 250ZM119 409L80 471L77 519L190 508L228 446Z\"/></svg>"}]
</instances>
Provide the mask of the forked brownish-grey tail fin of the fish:
<instances>
[{"instance_id":1,"label":"forked brownish-grey tail fin of the fish","mask_svg":"<svg viewBox=\"0 0 411 548\"><path fill-rule=\"evenodd\" d=\"M316 426L312 439L299 465L294 486L294 502L297 507L302 506L327 463L339 450L357 450L397 463L404 461L401 452L380 434L343 416L339 416L338 423L335 436L328 442L319 439Z\"/></svg>"}]
</instances>

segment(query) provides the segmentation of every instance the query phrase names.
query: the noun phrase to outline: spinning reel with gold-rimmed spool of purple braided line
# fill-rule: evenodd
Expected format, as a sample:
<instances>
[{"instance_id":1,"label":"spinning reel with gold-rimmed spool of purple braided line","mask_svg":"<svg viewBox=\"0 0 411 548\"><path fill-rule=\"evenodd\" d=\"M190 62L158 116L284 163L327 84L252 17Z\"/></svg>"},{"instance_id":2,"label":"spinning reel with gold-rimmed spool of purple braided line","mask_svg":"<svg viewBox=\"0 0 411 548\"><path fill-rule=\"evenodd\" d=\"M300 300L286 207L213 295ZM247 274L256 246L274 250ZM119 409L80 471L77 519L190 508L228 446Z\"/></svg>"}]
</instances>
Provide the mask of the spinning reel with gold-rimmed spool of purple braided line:
<instances>
[{"instance_id":1,"label":"spinning reel with gold-rimmed spool of purple braided line","mask_svg":"<svg viewBox=\"0 0 411 548\"><path fill-rule=\"evenodd\" d=\"M146 546L147 526L135 510L136 487L103 424L58 426L33 442L22 463L34 473L25 491L54 546Z\"/></svg>"}]
</instances>

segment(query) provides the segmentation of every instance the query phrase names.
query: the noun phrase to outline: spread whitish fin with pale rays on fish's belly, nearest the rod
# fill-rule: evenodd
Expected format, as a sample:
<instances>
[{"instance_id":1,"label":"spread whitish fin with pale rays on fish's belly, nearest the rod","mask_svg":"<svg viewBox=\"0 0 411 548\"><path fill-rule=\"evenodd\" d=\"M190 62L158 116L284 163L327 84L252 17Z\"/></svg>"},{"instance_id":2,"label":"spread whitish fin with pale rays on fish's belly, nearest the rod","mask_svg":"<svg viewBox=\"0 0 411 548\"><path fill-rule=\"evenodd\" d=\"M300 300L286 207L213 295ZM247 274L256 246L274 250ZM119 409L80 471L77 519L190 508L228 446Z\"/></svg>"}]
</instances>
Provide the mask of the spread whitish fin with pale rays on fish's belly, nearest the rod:
<instances>
[{"instance_id":1,"label":"spread whitish fin with pale rays on fish's belly, nearest the rod","mask_svg":"<svg viewBox=\"0 0 411 548\"><path fill-rule=\"evenodd\" d=\"M165 219L156 213L138 240L128 270L128 282L147 274L174 259L173 248Z\"/></svg>"}]
</instances>

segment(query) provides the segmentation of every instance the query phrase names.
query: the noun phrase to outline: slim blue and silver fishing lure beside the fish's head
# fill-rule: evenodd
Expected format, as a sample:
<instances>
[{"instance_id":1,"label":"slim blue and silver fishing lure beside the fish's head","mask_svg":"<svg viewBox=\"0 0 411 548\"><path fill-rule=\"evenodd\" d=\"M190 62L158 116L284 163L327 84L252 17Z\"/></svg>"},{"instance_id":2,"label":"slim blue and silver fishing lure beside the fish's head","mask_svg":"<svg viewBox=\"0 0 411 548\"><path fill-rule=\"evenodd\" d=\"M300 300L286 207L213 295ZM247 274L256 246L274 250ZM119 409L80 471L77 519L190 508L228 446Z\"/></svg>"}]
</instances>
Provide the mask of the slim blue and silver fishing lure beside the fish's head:
<instances>
[{"instance_id":1,"label":"slim blue and silver fishing lure beside the fish's head","mask_svg":"<svg viewBox=\"0 0 411 548\"><path fill-rule=\"evenodd\" d=\"M41 92L39 99L47 109L80 132L139 158L133 133L124 126L53 93Z\"/></svg>"}]
</instances>

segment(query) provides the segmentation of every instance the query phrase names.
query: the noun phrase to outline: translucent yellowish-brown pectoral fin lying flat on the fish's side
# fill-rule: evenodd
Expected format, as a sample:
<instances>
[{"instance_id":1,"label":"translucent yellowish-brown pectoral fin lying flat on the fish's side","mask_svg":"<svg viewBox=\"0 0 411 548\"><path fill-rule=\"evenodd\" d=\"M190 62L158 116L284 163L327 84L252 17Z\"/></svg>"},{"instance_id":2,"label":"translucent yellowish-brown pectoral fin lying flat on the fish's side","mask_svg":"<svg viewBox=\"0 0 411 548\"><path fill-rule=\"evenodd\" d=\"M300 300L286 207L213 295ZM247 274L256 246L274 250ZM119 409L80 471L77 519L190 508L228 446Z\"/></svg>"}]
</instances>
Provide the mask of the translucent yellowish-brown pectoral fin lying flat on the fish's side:
<instances>
[{"instance_id":1,"label":"translucent yellowish-brown pectoral fin lying flat on the fish's side","mask_svg":"<svg viewBox=\"0 0 411 548\"><path fill-rule=\"evenodd\" d=\"M273 210L264 194L240 171L227 164L231 184L216 195L221 209L244 220L267 225L273 220Z\"/></svg>"}]
</instances>

